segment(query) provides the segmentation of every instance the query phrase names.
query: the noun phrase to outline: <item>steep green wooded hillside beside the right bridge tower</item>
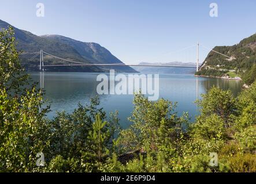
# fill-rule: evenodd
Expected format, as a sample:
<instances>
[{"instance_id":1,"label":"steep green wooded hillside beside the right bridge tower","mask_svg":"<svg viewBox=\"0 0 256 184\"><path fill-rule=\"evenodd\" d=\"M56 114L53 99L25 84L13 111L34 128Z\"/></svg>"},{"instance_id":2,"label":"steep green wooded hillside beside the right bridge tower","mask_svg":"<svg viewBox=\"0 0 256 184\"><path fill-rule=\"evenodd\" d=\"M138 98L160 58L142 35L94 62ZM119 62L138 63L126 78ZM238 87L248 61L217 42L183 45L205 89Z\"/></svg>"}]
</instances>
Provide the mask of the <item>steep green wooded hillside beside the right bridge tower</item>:
<instances>
[{"instance_id":1,"label":"steep green wooded hillside beside the right bridge tower","mask_svg":"<svg viewBox=\"0 0 256 184\"><path fill-rule=\"evenodd\" d=\"M240 41L239 44L232 46L218 46L213 48L225 57L211 51L202 67L196 75L223 76L238 75L242 76L245 83L252 83L256 79L256 34Z\"/></svg>"}]
</instances>

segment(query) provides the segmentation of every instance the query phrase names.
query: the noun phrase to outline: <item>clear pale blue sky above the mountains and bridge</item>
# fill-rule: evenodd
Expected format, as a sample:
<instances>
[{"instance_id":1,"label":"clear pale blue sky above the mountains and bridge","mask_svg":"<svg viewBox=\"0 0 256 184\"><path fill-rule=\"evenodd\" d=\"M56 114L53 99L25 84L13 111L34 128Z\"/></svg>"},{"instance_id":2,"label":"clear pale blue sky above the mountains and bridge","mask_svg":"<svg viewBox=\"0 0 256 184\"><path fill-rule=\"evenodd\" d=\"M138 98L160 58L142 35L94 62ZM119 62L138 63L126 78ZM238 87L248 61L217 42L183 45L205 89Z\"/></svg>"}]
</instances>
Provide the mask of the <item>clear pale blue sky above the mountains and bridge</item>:
<instances>
[{"instance_id":1,"label":"clear pale blue sky above the mountains and bridge","mask_svg":"<svg viewBox=\"0 0 256 184\"><path fill-rule=\"evenodd\" d=\"M45 17L36 17L44 3ZM210 3L218 17L210 17ZM256 32L255 0L1 0L0 19L37 35L95 42L125 63L194 62L196 41L233 45ZM176 52L179 51L179 52ZM209 50L200 47L200 60Z\"/></svg>"}]
</instances>

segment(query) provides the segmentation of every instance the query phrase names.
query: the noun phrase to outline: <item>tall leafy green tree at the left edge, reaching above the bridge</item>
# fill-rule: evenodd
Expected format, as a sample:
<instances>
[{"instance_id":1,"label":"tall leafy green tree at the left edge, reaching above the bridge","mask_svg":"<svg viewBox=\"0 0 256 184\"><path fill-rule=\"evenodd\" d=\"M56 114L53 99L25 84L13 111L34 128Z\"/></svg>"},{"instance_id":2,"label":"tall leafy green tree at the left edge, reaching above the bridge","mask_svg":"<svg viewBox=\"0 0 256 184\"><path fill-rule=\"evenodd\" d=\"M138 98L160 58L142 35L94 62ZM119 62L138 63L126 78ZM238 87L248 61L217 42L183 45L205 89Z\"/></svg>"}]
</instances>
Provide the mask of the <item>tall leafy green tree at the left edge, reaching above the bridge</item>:
<instances>
[{"instance_id":1,"label":"tall leafy green tree at the left edge, reaching above the bridge","mask_svg":"<svg viewBox=\"0 0 256 184\"><path fill-rule=\"evenodd\" d=\"M36 154L49 147L42 91L21 74L13 30L0 32L0 171L37 171Z\"/></svg>"}]
</instances>

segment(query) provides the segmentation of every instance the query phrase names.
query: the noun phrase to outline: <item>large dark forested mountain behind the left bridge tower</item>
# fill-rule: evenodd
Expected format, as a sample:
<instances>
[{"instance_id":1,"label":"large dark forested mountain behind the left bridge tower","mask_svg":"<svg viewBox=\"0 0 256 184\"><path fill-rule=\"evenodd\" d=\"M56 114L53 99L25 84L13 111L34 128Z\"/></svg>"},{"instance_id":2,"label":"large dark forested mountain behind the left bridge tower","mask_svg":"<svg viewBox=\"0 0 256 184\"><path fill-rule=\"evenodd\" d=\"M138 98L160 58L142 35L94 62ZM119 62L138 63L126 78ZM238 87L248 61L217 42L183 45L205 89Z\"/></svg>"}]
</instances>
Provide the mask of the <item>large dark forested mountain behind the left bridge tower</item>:
<instances>
[{"instance_id":1,"label":"large dark forested mountain behind the left bridge tower","mask_svg":"<svg viewBox=\"0 0 256 184\"><path fill-rule=\"evenodd\" d=\"M0 29L7 29L12 26L5 21L0 20ZM13 26L12 26L13 27ZM14 28L14 27L13 27ZM36 36L25 30L14 28L15 37L17 40L18 51L21 53L21 63L28 71L38 71L39 57L30 60L36 53L43 51L64 59L75 60L81 63L123 63L117 57L113 56L106 48L97 43L85 43L70 39L60 35L44 35ZM44 57L44 64L63 64L63 61L53 59L53 57ZM67 63L65 64L72 64ZM115 69L118 72L136 72L128 66L110 67L110 66L63 66L63 67L47 67L46 71L73 71L73 72L107 72L109 69Z\"/></svg>"}]
</instances>

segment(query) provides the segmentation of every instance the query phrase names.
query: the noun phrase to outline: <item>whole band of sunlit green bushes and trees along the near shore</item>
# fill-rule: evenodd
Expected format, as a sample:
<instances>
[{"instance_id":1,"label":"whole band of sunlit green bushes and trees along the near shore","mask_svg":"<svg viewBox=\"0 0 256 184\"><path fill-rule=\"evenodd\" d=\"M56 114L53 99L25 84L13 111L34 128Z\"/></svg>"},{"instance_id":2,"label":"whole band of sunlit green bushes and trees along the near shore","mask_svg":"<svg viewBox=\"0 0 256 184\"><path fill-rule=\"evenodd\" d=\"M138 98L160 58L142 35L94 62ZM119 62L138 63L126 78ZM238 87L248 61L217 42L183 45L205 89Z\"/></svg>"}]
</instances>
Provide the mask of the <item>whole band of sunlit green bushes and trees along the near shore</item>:
<instances>
[{"instance_id":1,"label":"whole band of sunlit green bushes and trees along the near shore","mask_svg":"<svg viewBox=\"0 0 256 184\"><path fill-rule=\"evenodd\" d=\"M0 32L0 173L256 172L256 83L237 98L213 87L194 122L176 103L135 94L133 124L121 129L98 98L48 119L18 56L12 28Z\"/></svg>"}]
</instances>

